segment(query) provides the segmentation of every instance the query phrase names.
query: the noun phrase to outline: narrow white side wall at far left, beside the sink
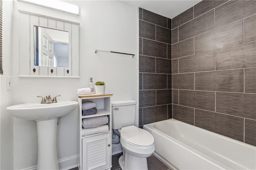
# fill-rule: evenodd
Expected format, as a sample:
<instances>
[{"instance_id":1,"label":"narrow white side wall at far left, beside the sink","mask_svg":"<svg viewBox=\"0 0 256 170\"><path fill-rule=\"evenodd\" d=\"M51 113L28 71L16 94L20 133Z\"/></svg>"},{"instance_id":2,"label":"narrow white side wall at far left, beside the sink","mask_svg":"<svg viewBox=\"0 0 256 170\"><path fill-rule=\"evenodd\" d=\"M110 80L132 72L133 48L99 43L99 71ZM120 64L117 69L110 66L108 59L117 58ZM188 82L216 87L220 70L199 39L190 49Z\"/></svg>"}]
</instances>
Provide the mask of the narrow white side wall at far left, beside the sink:
<instances>
[{"instance_id":1,"label":"narrow white side wall at far left, beside the sink","mask_svg":"<svg viewBox=\"0 0 256 170\"><path fill-rule=\"evenodd\" d=\"M0 169L13 169L13 119L7 113L6 107L13 103L13 90L6 91L6 76L12 76L13 59L12 59L12 13L13 2L3 0L3 61L4 75L0 75Z\"/></svg>"}]
</instances>

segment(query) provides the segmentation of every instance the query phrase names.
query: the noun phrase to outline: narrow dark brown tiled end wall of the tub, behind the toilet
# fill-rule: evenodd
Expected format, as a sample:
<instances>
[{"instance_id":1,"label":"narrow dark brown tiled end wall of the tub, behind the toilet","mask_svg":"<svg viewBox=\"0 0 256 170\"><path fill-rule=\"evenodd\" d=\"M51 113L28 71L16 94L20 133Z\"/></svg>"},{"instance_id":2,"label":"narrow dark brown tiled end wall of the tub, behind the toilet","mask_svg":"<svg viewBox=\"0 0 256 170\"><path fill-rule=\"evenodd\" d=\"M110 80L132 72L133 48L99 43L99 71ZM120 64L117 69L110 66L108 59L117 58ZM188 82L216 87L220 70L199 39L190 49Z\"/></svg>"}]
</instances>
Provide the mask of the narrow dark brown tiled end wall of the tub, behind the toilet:
<instances>
[{"instance_id":1,"label":"narrow dark brown tiled end wall of the tub, behind the toilet","mask_svg":"<svg viewBox=\"0 0 256 170\"><path fill-rule=\"evenodd\" d=\"M139 126L172 118L172 20L139 8Z\"/></svg>"}]
</instances>

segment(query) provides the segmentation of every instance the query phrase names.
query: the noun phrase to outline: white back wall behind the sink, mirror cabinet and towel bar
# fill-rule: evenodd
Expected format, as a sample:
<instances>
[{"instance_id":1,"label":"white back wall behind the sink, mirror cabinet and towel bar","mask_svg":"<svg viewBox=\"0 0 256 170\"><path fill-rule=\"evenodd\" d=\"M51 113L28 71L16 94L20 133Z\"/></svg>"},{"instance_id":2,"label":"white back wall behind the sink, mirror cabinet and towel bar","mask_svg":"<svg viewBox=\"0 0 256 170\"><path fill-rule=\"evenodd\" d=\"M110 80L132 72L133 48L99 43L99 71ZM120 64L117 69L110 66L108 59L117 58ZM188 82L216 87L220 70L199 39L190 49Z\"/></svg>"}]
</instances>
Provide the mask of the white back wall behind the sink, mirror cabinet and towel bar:
<instances>
[{"instance_id":1,"label":"white back wall behind the sink, mirror cabinet and towel bar","mask_svg":"<svg viewBox=\"0 0 256 170\"><path fill-rule=\"evenodd\" d=\"M70 3L79 6L79 16L14 1L13 104L39 102L37 95L60 94L62 96L59 97L59 101L77 101L77 89L88 87L90 77L93 78L94 83L105 81L106 92L114 94L112 100L134 99L138 101L137 8L119 1L80 0L70 1ZM18 77L20 67L18 9L80 22L80 79ZM96 48L134 53L136 56L132 58L129 55L94 53ZM138 125L138 107L136 110L136 125ZM3 114L6 114L5 112ZM14 118L13 135L14 169L36 166L36 122ZM59 160L78 154L78 108L69 115L59 118L57 150Z\"/></svg>"}]
</instances>

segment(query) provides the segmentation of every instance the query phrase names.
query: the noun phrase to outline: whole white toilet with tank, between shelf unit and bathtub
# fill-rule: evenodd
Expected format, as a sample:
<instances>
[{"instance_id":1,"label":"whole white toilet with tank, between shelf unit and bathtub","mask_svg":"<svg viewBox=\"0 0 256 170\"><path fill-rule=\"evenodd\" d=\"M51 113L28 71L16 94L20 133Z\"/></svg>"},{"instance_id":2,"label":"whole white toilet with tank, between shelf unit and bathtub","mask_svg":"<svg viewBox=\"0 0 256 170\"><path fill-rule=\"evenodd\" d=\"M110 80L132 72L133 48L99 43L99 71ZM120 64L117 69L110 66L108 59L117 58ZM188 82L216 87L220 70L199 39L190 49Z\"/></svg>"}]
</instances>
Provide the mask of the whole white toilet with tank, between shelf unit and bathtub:
<instances>
[{"instance_id":1,"label":"whole white toilet with tank, between shelf unit and bathtub","mask_svg":"<svg viewBox=\"0 0 256 170\"><path fill-rule=\"evenodd\" d=\"M150 132L134 126L136 101L112 101L112 129L118 130L123 155L118 162L122 170L148 170L147 157L154 150Z\"/></svg>"}]
</instances>

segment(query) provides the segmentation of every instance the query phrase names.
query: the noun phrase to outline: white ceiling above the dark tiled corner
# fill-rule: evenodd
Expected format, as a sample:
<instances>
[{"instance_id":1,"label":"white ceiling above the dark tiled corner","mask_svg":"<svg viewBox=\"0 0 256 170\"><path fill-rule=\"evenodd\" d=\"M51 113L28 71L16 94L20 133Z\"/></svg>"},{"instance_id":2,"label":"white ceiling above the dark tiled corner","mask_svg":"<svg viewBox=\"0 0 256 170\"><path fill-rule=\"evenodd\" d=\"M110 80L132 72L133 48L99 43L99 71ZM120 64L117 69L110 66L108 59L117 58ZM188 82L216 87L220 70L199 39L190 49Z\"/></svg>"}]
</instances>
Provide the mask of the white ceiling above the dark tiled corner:
<instances>
[{"instance_id":1,"label":"white ceiling above the dark tiled corner","mask_svg":"<svg viewBox=\"0 0 256 170\"><path fill-rule=\"evenodd\" d=\"M149 10L167 18L174 18L201 0L120 0L126 4Z\"/></svg>"}]
</instances>

